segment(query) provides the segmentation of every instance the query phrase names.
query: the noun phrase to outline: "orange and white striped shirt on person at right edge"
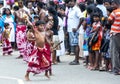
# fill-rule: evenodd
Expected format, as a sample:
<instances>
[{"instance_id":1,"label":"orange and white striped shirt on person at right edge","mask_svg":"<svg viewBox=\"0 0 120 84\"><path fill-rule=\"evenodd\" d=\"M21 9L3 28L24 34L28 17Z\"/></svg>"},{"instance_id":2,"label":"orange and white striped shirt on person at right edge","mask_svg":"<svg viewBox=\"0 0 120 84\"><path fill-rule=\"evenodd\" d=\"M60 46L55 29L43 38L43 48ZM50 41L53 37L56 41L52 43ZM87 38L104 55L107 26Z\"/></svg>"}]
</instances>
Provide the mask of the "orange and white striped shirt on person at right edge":
<instances>
[{"instance_id":1,"label":"orange and white striped shirt on person at right edge","mask_svg":"<svg viewBox=\"0 0 120 84\"><path fill-rule=\"evenodd\" d=\"M120 33L120 8L114 10L108 20L113 21L113 24L111 26L111 33Z\"/></svg>"}]
</instances>

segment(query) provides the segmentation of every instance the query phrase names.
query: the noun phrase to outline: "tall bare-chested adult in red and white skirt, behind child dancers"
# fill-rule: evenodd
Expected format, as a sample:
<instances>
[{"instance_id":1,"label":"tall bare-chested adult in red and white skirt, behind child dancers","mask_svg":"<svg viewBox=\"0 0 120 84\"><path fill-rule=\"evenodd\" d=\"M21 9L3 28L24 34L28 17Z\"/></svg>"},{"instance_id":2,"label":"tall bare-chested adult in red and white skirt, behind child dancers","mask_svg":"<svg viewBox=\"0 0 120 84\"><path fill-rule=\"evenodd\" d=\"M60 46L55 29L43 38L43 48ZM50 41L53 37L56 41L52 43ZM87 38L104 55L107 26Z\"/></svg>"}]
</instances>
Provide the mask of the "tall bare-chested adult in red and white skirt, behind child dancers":
<instances>
[{"instance_id":1,"label":"tall bare-chested adult in red and white skirt, behind child dancers","mask_svg":"<svg viewBox=\"0 0 120 84\"><path fill-rule=\"evenodd\" d=\"M16 21L16 42L17 47L20 52L20 56L17 58L22 58L24 55L24 46L26 42L26 19L28 19L28 10L23 5L23 2L18 1L19 10L15 12Z\"/></svg>"}]
</instances>

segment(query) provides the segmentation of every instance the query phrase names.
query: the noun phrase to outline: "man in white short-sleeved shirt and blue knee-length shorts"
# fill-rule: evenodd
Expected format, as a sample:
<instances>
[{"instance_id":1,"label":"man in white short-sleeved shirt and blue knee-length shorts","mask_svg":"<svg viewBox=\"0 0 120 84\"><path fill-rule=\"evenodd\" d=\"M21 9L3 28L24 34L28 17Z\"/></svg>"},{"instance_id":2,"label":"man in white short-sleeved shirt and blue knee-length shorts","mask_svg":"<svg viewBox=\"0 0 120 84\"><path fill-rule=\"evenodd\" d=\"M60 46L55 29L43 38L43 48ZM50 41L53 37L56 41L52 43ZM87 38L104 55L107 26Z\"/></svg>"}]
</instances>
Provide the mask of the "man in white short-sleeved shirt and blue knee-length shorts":
<instances>
[{"instance_id":1,"label":"man in white short-sleeved shirt and blue knee-length shorts","mask_svg":"<svg viewBox=\"0 0 120 84\"><path fill-rule=\"evenodd\" d=\"M68 20L67 20L67 32L69 33L69 43L71 47L71 52L75 52L75 60L70 62L70 65L79 64L79 46L78 44L73 44L74 37L72 36L73 29L79 29L80 18L83 17L81 10L76 6L76 0L69 0L70 8L68 10ZM74 49L75 48L75 49Z\"/></svg>"}]
</instances>

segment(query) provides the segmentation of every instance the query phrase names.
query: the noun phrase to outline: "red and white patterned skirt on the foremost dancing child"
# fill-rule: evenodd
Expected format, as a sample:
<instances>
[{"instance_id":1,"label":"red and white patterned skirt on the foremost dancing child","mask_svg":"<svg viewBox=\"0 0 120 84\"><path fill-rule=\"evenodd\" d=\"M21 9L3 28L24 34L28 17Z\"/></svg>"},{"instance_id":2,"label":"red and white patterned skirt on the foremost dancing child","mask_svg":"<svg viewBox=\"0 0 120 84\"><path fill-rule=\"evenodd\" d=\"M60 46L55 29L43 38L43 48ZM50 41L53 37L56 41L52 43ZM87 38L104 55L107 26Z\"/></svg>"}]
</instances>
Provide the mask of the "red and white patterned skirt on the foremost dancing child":
<instances>
[{"instance_id":1,"label":"red and white patterned skirt on the foremost dancing child","mask_svg":"<svg viewBox=\"0 0 120 84\"><path fill-rule=\"evenodd\" d=\"M50 46L48 44L45 44L45 47L42 49L36 47L30 55L27 72L39 74L45 70L49 70L50 68L51 68Z\"/></svg>"}]
</instances>

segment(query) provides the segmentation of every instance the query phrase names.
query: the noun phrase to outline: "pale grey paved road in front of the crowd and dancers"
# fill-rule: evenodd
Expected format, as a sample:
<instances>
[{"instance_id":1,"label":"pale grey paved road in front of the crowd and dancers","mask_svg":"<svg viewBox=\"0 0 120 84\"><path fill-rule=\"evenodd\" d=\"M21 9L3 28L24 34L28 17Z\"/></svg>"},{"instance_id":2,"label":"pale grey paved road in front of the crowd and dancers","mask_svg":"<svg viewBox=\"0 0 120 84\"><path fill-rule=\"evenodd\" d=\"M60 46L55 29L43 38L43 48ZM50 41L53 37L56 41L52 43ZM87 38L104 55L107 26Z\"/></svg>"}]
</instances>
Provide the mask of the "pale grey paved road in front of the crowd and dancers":
<instances>
[{"instance_id":1,"label":"pale grey paved road in front of the crowd and dancers","mask_svg":"<svg viewBox=\"0 0 120 84\"><path fill-rule=\"evenodd\" d=\"M62 62L53 65L54 76L47 79L44 74L33 76L31 81L24 80L27 64L14 51L13 56L2 56L0 49L0 84L120 84L120 76L107 72L89 71L81 61L80 65L68 65L73 56L62 56Z\"/></svg>"}]
</instances>

